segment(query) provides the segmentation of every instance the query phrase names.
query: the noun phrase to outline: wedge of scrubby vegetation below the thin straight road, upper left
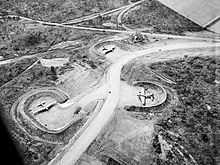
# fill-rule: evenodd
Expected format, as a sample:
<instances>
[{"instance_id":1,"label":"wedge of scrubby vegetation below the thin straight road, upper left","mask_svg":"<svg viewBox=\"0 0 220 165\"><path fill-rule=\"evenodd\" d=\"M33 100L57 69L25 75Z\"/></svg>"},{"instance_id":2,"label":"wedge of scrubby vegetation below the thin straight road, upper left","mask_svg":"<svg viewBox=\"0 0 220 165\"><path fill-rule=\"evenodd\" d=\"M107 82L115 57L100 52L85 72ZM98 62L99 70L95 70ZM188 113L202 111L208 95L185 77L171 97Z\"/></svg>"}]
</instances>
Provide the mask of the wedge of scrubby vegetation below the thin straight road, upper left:
<instances>
[{"instance_id":1,"label":"wedge of scrubby vegetation below the thin straight road, upper left","mask_svg":"<svg viewBox=\"0 0 220 165\"><path fill-rule=\"evenodd\" d=\"M4 59L43 53L58 43L76 41L68 50L83 47L94 38L112 35L108 32L91 32L65 27L47 27L5 18L0 20L0 58ZM63 48L62 48L63 49Z\"/></svg>"}]
</instances>

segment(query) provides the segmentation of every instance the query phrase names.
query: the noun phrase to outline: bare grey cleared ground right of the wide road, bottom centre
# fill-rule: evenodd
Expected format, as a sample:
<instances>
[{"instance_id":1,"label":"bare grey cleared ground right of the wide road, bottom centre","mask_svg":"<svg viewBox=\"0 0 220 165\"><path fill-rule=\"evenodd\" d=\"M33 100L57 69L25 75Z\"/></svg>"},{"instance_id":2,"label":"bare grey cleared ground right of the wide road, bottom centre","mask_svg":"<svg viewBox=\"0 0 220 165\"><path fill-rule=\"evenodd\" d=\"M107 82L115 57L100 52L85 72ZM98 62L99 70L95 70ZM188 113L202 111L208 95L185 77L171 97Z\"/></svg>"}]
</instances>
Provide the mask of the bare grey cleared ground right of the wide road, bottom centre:
<instances>
[{"instance_id":1,"label":"bare grey cleared ground right of the wide road, bottom centre","mask_svg":"<svg viewBox=\"0 0 220 165\"><path fill-rule=\"evenodd\" d=\"M86 153L100 159L106 155L121 164L136 164L137 161L149 155L154 122L136 120L126 111L117 109L114 118ZM102 162L104 162L103 159Z\"/></svg>"}]
</instances>

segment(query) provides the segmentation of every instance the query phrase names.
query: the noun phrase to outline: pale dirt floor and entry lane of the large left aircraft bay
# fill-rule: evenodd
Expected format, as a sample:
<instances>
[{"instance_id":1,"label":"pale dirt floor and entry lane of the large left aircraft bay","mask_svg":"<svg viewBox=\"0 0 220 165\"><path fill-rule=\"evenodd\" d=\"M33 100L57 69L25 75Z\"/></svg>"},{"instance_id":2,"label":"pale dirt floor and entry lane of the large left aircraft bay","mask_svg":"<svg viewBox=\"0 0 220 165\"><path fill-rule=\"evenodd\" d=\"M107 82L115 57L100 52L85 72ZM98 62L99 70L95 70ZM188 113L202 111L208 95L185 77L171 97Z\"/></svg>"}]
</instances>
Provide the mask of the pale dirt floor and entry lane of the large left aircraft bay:
<instances>
[{"instance_id":1,"label":"pale dirt floor and entry lane of the large left aircraft bay","mask_svg":"<svg viewBox=\"0 0 220 165\"><path fill-rule=\"evenodd\" d=\"M80 72L80 69L76 69L76 71L75 70L70 71L69 74L72 74L72 76L76 76L76 73L82 74L82 72ZM80 80L80 77L75 77L75 78L76 78L75 81ZM71 83L71 82L68 82L68 83ZM79 84L79 86L80 85L83 85L83 84ZM89 95L82 96L80 100L77 100L77 101L73 100L71 102L71 99L70 99L64 104L58 104L53 98L50 98L50 97L39 98L32 102L30 109L32 109L33 112L36 112L36 111L47 108L52 103L56 103L56 105L53 106L50 110L40 113L34 117L36 118L38 122L40 122L46 128L50 130L60 130L61 128L64 128L66 125L68 125L69 123L74 123L78 121L79 119L81 119L83 117L82 116L83 114L91 112L96 105L95 104L96 101L94 102L94 100L105 98L105 97L106 97L106 86L102 86L101 88L99 88L98 90L95 90ZM44 105L39 106L42 103ZM78 107L81 107L83 111L82 113L75 115L74 112Z\"/></svg>"}]
</instances>

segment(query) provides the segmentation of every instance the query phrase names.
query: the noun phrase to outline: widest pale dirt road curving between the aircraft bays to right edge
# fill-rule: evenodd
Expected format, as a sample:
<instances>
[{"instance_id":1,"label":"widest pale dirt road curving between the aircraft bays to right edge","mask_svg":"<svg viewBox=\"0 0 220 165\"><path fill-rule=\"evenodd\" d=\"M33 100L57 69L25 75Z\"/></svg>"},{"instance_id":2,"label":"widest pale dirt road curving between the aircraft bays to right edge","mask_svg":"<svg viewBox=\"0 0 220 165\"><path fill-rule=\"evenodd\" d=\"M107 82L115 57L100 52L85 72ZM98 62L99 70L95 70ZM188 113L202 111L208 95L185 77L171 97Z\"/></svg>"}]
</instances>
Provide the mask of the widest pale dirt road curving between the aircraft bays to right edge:
<instances>
[{"instance_id":1,"label":"widest pale dirt road curving between the aircraft bays to right edge","mask_svg":"<svg viewBox=\"0 0 220 165\"><path fill-rule=\"evenodd\" d=\"M73 165L82 155L82 153L87 149L87 147L92 143L96 136L100 133L102 128L108 123L114 114L114 110L118 104L120 98L120 74L122 67L130 60L146 56L148 57L149 63L158 62L160 60L171 60L173 58L182 57L180 55L176 56L166 56L166 54L161 54L160 56L151 56L151 53L164 52L178 49L193 49L193 48L210 48L210 47L220 47L220 43L207 43L207 42L190 42L190 43L179 43L170 44L161 47L154 47L148 50L141 50L137 52L128 52L127 56L122 57L114 65L110 67L107 73L107 85L108 85L108 96L102 109L98 115L94 118L87 129L81 134L75 143L69 143L65 150L57 155L49 165Z\"/></svg>"}]
</instances>

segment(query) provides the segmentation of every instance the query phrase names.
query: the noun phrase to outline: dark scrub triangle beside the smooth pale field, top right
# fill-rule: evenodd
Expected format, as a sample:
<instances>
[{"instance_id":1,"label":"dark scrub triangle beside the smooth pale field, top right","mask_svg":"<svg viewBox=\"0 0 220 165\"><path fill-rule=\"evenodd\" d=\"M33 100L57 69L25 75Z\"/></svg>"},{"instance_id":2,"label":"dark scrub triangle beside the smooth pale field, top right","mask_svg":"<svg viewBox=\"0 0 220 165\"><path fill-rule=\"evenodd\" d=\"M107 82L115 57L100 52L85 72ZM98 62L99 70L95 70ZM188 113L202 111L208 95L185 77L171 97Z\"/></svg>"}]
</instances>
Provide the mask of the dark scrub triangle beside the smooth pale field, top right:
<instances>
[{"instance_id":1,"label":"dark scrub triangle beside the smooth pale field, top right","mask_svg":"<svg viewBox=\"0 0 220 165\"><path fill-rule=\"evenodd\" d=\"M131 28L148 28L147 32L182 34L201 31L202 28L156 0L147 0L140 9L133 10L123 19Z\"/></svg>"}]
</instances>

